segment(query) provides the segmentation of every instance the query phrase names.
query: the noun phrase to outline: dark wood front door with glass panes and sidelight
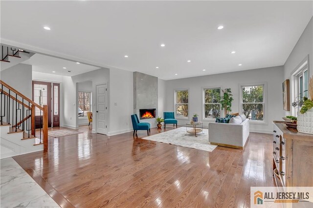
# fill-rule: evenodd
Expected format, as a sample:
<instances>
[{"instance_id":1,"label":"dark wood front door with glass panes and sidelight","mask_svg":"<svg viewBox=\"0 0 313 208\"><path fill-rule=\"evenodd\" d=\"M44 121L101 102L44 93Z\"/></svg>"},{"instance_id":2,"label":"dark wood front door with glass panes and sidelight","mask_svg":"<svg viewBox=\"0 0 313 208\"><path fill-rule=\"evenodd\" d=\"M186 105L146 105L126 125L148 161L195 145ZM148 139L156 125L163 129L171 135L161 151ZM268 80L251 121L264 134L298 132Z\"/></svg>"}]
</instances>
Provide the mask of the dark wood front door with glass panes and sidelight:
<instances>
[{"instance_id":1,"label":"dark wood front door with glass panes and sidelight","mask_svg":"<svg viewBox=\"0 0 313 208\"><path fill-rule=\"evenodd\" d=\"M48 105L48 127L60 126L60 84L33 81L32 85L33 101L40 106ZM35 128L43 127L41 110L36 107L35 111Z\"/></svg>"}]
</instances>

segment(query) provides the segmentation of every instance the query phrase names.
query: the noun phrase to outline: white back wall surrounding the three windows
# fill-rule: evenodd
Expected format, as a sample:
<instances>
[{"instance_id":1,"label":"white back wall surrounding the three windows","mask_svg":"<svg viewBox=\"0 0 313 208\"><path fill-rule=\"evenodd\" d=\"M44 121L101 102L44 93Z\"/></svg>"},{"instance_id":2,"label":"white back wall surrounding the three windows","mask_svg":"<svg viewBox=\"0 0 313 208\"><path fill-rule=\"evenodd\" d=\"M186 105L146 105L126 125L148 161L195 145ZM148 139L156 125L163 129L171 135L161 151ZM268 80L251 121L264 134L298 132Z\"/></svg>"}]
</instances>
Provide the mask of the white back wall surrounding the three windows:
<instances>
[{"instance_id":1,"label":"white back wall surrounding the three windows","mask_svg":"<svg viewBox=\"0 0 313 208\"><path fill-rule=\"evenodd\" d=\"M264 125L251 123L250 131L271 133L273 128L271 121L281 120L284 116L282 101L283 80L283 66L277 66L166 81L166 105L164 110L174 111L175 90L189 89L189 119L179 120L179 125L184 125L191 120L193 113L198 113L202 120L202 87L221 87L221 89L231 88L234 98L232 112L239 112L239 86L241 84L267 83L267 123ZM208 122L203 121L203 123L207 127Z\"/></svg>"}]
</instances>

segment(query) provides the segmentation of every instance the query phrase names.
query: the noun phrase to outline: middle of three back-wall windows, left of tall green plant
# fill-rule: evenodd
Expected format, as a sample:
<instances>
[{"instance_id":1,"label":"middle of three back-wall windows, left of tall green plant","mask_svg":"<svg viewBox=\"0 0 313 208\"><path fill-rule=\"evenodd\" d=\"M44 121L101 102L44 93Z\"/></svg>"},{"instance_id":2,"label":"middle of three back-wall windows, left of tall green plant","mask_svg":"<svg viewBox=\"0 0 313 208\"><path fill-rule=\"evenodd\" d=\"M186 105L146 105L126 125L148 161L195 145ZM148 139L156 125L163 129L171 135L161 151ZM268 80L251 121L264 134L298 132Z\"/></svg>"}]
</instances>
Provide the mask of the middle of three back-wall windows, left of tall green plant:
<instances>
[{"instance_id":1,"label":"middle of three back-wall windows, left of tall green plant","mask_svg":"<svg viewBox=\"0 0 313 208\"><path fill-rule=\"evenodd\" d=\"M215 119L220 117L221 104L220 104L221 89L211 88L203 89L203 118Z\"/></svg>"}]
</instances>

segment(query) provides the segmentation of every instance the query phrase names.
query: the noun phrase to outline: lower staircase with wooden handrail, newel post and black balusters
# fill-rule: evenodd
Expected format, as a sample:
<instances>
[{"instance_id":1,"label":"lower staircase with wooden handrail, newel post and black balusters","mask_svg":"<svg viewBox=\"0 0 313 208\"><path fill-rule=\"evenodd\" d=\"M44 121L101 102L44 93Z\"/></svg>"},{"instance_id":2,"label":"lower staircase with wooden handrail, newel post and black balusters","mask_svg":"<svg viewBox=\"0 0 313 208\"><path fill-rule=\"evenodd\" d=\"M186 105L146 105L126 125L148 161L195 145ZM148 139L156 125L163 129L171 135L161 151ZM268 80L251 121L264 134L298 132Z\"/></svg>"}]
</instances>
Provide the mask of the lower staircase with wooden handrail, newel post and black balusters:
<instances>
[{"instance_id":1,"label":"lower staircase with wooden handrail, newel post and black balusters","mask_svg":"<svg viewBox=\"0 0 313 208\"><path fill-rule=\"evenodd\" d=\"M1 80L0 96L0 159L46 152L48 106L36 104Z\"/></svg>"}]
</instances>

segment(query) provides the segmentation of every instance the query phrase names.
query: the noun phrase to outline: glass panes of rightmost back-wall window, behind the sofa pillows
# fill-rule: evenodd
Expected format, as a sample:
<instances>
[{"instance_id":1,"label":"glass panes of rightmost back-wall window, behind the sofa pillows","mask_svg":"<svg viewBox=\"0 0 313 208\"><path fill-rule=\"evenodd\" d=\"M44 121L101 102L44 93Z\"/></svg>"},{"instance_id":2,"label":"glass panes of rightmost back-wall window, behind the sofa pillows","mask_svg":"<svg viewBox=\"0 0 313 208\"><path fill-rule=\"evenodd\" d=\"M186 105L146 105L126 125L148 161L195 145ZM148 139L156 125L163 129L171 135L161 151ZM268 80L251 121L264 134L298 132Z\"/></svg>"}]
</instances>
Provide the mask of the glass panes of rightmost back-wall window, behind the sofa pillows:
<instances>
[{"instance_id":1,"label":"glass panes of rightmost back-wall window, behind the sofa pillows","mask_svg":"<svg viewBox=\"0 0 313 208\"><path fill-rule=\"evenodd\" d=\"M241 93L241 109L246 118L264 122L264 84L242 86Z\"/></svg>"}]
</instances>

